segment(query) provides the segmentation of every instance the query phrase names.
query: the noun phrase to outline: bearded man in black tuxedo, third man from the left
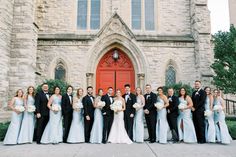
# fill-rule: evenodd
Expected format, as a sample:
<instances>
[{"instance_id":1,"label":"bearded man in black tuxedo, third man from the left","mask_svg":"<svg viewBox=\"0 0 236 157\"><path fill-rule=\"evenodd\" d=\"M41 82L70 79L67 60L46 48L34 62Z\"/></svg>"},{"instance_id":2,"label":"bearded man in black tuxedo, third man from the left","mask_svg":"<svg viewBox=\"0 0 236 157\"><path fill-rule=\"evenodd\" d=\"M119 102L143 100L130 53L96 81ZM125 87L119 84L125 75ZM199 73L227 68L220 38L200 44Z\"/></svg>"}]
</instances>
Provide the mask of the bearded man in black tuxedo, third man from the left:
<instances>
[{"instance_id":1,"label":"bearded man in black tuxedo, third man from the left","mask_svg":"<svg viewBox=\"0 0 236 157\"><path fill-rule=\"evenodd\" d=\"M85 142L89 143L90 133L93 127L94 121L94 97L93 97L93 87L87 87L87 95L83 98L82 103L84 106L84 135Z\"/></svg>"}]
</instances>

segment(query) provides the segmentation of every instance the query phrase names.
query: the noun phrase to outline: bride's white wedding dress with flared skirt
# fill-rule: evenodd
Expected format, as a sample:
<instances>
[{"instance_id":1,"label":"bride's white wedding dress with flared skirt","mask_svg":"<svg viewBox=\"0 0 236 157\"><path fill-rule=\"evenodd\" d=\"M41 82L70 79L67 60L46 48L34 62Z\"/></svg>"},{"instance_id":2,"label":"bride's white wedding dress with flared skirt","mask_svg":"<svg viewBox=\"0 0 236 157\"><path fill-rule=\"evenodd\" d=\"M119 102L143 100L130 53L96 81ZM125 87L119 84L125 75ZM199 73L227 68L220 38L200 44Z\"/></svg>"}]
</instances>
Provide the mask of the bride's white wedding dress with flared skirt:
<instances>
[{"instance_id":1,"label":"bride's white wedding dress with flared skirt","mask_svg":"<svg viewBox=\"0 0 236 157\"><path fill-rule=\"evenodd\" d=\"M121 103L121 100L116 100L117 103ZM124 112L118 112L114 113L114 120L112 123L111 131L108 137L108 142L111 143L126 143L131 144L133 143L126 130L125 130L125 124L124 124Z\"/></svg>"}]
</instances>

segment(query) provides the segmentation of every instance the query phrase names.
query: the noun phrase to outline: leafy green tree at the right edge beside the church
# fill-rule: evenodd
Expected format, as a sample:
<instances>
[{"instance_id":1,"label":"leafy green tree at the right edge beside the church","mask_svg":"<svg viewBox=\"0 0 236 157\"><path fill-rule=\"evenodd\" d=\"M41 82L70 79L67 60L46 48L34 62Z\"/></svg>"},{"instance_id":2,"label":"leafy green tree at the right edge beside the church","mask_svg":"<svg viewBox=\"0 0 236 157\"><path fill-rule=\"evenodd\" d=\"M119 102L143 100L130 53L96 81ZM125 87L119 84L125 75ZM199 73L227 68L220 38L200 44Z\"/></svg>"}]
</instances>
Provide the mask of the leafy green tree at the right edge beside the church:
<instances>
[{"instance_id":1,"label":"leafy green tree at the right edge beside the church","mask_svg":"<svg viewBox=\"0 0 236 157\"><path fill-rule=\"evenodd\" d=\"M214 58L212 69L215 72L213 83L225 94L236 94L236 29L218 32L214 35Z\"/></svg>"}]
</instances>

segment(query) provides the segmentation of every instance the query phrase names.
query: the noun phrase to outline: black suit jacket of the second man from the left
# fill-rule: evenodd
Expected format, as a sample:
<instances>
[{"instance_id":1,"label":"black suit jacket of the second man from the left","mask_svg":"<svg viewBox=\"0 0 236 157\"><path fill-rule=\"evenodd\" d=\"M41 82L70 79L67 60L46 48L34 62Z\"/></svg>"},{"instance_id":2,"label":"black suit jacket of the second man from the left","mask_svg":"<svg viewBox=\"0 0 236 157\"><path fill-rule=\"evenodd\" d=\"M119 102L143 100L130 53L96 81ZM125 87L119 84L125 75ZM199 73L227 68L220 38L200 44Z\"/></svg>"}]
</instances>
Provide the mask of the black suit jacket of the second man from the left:
<instances>
[{"instance_id":1,"label":"black suit jacket of the second man from the left","mask_svg":"<svg viewBox=\"0 0 236 157\"><path fill-rule=\"evenodd\" d=\"M62 115L73 113L72 104L73 104L73 96L71 97L71 102L70 102L69 95L67 93L64 94L61 99Z\"/></svg>"}]
</instances>

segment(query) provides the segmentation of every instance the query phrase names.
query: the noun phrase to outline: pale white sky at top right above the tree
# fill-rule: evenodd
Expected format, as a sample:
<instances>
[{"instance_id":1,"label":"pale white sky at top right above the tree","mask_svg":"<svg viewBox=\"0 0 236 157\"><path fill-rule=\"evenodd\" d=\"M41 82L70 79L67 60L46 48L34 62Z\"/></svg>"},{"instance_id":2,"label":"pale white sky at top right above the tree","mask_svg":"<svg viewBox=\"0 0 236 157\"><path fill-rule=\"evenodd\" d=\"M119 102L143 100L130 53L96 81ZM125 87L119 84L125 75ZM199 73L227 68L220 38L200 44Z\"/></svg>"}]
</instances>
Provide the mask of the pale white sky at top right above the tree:
<instances>
[{"instance_id":1,"label":"pale white sky at top right above the tree","mask_svg":"<svg viewBox=\"0 0 236 157\"><path fill-rule=\"evenodd\" d=\"M211 13L211 32L214 34L229 30L229 5L228 0L208 0Z\"/></svg>"}]
</instances>

